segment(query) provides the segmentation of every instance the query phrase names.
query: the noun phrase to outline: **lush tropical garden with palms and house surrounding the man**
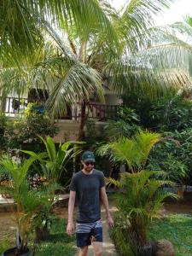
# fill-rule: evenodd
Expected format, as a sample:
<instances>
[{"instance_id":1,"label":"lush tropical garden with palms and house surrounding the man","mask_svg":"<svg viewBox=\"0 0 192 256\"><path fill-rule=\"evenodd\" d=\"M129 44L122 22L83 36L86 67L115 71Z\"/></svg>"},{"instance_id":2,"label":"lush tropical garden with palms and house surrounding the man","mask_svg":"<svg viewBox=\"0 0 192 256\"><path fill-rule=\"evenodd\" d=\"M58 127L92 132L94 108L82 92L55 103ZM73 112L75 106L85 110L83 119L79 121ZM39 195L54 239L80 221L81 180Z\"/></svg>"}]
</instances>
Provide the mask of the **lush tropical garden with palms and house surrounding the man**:
<instances>
[{"instance_id":1,"label":"lush tropical garden with palms and house surrounding the man","mask_svg":"<svg viewBox=\"0 0 192 256\"><path fill-rule=\"evenodd\" d=\"M192 255L192 19L155 26L169 5L3 0L0 254L77 253L69 185L91 150L117 255Z\"/></svg>"}]
</instances>

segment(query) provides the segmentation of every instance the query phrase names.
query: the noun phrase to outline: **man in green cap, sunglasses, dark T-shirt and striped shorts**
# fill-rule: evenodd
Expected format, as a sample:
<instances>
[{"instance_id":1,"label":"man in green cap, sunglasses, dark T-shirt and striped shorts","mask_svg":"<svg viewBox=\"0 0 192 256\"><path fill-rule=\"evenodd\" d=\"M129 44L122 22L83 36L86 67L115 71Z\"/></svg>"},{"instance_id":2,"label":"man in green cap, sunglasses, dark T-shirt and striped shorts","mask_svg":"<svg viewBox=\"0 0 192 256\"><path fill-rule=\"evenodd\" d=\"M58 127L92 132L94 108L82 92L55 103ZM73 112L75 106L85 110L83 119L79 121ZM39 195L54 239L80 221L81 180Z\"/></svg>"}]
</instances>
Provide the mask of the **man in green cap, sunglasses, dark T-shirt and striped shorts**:
<instances>
[{"instance_id":1,"label":"man in green cap, sunglasses, dark T-shirt and striped shorts","mask_svg":"<svg viewBox=\"0 0 192 256\"><path fill-rule=\"evenodd\" d=\"M106 210L108 225L113 227L113 218L108 210L108 197L106 195L104 175L94 169L95 156L90 151L82 155L83 170L77 172L70 185L68 203L67 234L73 235L73 210L77 201L76 240L79 247L79 256L86 256L88 246L93 244L94 255L102 255L102 221L101 201Z\"/></svg>"}]
</instances>

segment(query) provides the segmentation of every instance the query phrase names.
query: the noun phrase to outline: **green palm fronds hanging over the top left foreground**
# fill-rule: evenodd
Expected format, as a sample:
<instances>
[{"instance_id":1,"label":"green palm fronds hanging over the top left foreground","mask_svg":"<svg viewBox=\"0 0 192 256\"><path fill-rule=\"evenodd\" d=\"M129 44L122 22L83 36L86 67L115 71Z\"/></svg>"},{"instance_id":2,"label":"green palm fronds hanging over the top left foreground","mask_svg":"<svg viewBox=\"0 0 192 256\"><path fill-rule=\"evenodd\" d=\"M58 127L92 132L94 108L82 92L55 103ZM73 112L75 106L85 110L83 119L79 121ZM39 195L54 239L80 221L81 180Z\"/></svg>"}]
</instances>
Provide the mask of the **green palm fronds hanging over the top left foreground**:
<instances>
[{"instance_id":1,"label":"green palm fronds hanging over the top left foreground","mask_svg":"<svg viewBox=\"0 0 192 256\"><path fill-rule=\"evenodd\" d=\"M16 58L28 49L35 49L42 41L42 27L50 22L54 26L68 26L72 22L77 32L83 35L86 30L97 26L110 33L109 20L97 1L80 0L3 0L0 7L1 56L11 54Z\"/></svg>"}]
</instances>

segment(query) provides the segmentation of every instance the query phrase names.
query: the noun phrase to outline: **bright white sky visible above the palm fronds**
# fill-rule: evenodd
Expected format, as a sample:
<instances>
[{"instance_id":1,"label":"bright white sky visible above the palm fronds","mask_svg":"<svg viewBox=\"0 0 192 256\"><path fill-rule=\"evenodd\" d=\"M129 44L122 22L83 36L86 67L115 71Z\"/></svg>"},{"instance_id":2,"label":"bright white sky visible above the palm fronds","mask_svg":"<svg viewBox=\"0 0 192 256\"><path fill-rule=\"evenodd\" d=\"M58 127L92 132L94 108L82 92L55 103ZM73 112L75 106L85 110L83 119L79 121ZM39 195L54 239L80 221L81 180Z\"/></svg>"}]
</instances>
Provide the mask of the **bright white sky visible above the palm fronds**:
<instances>
[{"instance_id":1,"label":"bright white sky visible above the palm fronds","mask_svg":"<svg viewBox=\"0 0 192 256\"><path fill-rule=\"evenodd\" d=\"M113 4L113 7L119 9L124 6L129 0L108 0ZM160 15L155 19L156 26L172 24L176 21L183 20L183 17L190 15L192 17L192 0L175 0L170 9L166 9L164 15Z\"/></svg>"}]
</instances>

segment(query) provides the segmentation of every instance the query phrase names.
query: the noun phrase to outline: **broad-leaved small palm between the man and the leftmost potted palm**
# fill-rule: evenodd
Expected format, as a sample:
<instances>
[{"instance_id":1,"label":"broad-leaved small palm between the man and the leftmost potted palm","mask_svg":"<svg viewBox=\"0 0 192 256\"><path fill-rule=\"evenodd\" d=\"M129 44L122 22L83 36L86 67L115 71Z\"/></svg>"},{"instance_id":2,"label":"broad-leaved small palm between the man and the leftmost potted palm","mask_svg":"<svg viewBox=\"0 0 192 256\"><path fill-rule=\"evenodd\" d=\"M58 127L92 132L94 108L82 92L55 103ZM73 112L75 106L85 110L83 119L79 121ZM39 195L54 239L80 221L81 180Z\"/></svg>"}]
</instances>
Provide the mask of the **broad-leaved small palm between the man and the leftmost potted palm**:
<instances>
[{"instance_id":1,"label":"broad-leaved small palm between the man and the leftmost potted palm","mask_svg":"<svg viewBox=\"0 0 192 256\"><path fill-rule=\"evenodd\" d=\"M66 166L68 161L73 160L81 152L78 146L79 142L60 143L59 147L56 148L55 142L51 137L46 137L46 139L40 138L44 143L46 151L36 154L33 151L22 150L22 152L32 156L38 167L40 164L39 174L45 177L49 186L49 189L46 189L50 196L49 202L46 206L39 209L35 218L38 224L35 229L37 242L44 240L49 235L49 227L54 218L52 208L55 202L58 201L58 196L55 195L55 192L58 189L62 189L58 184L61 175L67 172Z\"/></svg>"}]
</instances>

